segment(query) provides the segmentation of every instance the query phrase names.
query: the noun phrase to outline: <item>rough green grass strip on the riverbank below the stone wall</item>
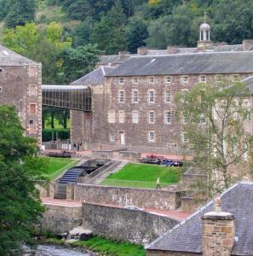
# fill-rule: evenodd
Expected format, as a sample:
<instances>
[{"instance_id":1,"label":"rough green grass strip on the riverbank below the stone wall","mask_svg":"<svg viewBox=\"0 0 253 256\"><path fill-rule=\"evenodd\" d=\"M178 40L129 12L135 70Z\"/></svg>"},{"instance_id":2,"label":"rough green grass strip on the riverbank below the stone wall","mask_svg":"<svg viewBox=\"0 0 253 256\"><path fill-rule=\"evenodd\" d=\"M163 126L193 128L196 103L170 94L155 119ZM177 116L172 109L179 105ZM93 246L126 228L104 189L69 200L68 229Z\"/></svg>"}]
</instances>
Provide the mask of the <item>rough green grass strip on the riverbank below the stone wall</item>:
<instances>
[{"instance_id":1,"label":"rough green grass strip on the riverbank below the stone wall","mask_svg":"<svg viewBox=\"0 0 253 256\"><path fill-rule=\"evenodd\" d=\"M74 246L89 247L90 250L98 253L106 253L113 256L145 256L144 247L129 242L111 241L101 237L93 237L88 241L74 241Z\"/></svg>"}]
</instances>

